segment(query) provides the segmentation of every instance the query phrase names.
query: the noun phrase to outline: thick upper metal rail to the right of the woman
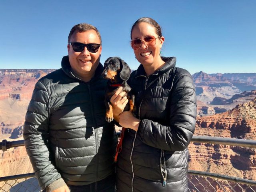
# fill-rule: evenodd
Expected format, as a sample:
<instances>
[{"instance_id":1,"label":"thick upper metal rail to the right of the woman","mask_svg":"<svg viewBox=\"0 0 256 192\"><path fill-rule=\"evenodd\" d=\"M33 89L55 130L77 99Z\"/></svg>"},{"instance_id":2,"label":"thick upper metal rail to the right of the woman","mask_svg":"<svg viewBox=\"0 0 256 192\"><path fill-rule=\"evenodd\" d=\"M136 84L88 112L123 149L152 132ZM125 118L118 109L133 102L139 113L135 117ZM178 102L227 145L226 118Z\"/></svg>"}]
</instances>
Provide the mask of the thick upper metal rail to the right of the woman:
<instances>
[{"instance_id":1,"label":"thick upper metal rail to the right of the woman","mask_svg":"<svg viewBox=\"0 0 256 192\"><path fill-rule=\"evenodd\" d=\"M226 138L226 137L193 136L191 142L256 148L256 140L236 139L236 138Z\"/></svg>"}]
</instances>

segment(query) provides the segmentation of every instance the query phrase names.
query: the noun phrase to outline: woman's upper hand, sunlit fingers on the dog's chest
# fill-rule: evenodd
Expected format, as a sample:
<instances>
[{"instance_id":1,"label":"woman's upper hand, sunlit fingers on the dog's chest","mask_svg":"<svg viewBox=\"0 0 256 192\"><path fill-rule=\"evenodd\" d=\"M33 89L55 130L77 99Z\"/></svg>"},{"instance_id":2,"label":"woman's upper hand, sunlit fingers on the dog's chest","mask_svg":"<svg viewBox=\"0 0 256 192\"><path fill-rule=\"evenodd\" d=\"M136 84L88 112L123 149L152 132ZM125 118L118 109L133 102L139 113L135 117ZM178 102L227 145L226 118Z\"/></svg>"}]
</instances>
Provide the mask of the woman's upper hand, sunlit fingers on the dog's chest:
<instances>
[{"instance_id":1,"label":"woman's upper hand, sunlit fingers on the dog's chest","mask_svg":"<svg viewBox=\"0 0 256 192\"><path fill-rule=\"evenodd\" d=\"M122 89L122 87L118 88L118 90L110 98L110 103L113 107L113 116L116 122L119 122L119 114L124 111L124 107L128 103L127 97L124 96L126 92L122 92Z\"/></svg>"}]
</instances>

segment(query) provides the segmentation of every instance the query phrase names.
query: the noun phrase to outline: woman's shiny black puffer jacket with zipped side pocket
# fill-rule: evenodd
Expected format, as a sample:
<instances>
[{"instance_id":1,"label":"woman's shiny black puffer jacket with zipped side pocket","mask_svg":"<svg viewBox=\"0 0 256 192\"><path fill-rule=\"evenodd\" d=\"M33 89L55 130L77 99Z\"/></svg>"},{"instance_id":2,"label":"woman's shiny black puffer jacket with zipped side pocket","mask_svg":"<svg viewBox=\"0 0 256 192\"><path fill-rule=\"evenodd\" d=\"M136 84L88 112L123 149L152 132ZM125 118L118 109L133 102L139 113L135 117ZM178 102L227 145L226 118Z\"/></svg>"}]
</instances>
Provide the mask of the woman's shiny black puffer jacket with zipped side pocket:
<instances>
[{"instance_id":1,"label":"woman's shiny black puffer jacket with zipped side pocket","mask_svg":"<svg viewBox=\"0 0 256 192\"><path fill-rule=\"evenodd\" d=\"M118 192L186 192L188 144L196 124L196 92L176 58L146 76L142 65L128 84L135 94L138 131L124 133L117 161Z\"/></svg>"}]
</instances>

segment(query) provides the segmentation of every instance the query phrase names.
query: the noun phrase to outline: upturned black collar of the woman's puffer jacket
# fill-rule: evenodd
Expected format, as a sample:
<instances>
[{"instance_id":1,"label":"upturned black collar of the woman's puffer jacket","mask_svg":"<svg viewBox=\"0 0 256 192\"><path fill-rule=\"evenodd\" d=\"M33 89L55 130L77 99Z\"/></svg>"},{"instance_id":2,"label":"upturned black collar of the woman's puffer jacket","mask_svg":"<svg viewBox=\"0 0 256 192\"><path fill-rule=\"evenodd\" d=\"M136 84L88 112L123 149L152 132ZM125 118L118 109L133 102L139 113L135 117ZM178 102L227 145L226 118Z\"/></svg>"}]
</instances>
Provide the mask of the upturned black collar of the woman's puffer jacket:
<instances>
[{"instance_id":1,"label":"upturned black collar of the woman's puffer jacket","mask_svg":"<svg viewBox=\"0 0 256 192\"><path fill-rule=\"evenodd\" d=\"M161 58L165 62L164 65L158 70L156 70L152 75L158 75L158 74L161 75L166 71L174 68L176 64L176 57L161 57ZM138 76L147 76L142 64L140 64L140 66L135 72L135 77L138 77Z\"/></svg>"}]
</instances>

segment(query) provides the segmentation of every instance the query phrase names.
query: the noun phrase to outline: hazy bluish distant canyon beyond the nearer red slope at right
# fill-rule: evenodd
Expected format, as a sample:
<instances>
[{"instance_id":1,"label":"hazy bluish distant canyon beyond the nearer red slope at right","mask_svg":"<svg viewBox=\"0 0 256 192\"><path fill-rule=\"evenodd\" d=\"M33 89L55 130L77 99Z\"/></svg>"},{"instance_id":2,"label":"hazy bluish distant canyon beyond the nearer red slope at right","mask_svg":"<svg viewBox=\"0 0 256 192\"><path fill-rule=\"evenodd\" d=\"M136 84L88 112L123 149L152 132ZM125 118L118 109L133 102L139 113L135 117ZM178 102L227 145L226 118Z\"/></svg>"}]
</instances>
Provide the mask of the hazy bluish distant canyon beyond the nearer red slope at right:
<instances>
[{"instance_id":1,"label":"hazy bluish distant canyon beyond the nearer red slope at right","mask_svg":"<svg viewBox=\"0 0 256 192\"><path fill-rule=\"evenodd\" d=\"M198 98L198 115L226 112L255 98L256 73L192 75Z\"/></svg>"}]
</instances>

